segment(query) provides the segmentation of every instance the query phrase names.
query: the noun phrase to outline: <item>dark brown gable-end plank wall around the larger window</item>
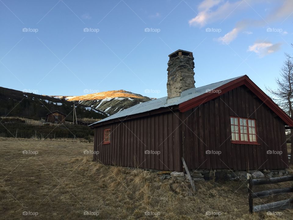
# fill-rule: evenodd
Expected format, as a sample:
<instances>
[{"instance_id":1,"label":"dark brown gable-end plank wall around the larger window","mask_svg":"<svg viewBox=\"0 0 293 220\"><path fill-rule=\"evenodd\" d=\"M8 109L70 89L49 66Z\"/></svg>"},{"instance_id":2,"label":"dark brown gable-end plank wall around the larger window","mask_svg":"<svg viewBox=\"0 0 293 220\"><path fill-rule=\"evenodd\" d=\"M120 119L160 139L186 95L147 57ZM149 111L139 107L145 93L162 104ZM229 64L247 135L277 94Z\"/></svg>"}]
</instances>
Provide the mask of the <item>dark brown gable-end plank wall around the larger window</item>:
<instances>
[{"instance_id":1,"label":"dark brown gable-end plank wall around the larger window","mask_svg":"<svg viewBox=\"0 0 293 220\"><path fill-rule=\"evenodd\" d=\"M230 116L256 120L260 145L232 144ZM190 169L283 169L288 167L284 122L246 86L181 113L183 155ZM220 155L206 154L221 151ZM281 155L267 154L282 151Z\"/></svg>"}]
</instances>

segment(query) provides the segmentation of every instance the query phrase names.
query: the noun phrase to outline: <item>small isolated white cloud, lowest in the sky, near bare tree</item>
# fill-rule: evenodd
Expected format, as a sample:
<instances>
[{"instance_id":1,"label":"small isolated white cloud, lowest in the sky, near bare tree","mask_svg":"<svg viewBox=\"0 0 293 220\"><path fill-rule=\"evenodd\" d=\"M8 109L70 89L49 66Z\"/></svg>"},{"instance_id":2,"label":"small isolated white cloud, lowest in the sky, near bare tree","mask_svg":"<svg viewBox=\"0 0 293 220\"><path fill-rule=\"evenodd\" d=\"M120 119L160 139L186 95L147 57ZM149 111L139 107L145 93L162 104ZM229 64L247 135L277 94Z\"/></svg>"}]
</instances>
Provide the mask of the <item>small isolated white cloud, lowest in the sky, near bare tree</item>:
<instances>
[{"instance_id":1,"label":"small isolated white cloud, lowest in the sky, near bare tree","mask_svg":"<svg viewBox=\"0 0 293 220\"><path fill-rule=\"evenodd\" d=\"M260 57L274 53L280 49L281 44L272 44L271 42L255 42L253 45L248 46L248 51L259 54Z\"/></svg>"}]
</instances>

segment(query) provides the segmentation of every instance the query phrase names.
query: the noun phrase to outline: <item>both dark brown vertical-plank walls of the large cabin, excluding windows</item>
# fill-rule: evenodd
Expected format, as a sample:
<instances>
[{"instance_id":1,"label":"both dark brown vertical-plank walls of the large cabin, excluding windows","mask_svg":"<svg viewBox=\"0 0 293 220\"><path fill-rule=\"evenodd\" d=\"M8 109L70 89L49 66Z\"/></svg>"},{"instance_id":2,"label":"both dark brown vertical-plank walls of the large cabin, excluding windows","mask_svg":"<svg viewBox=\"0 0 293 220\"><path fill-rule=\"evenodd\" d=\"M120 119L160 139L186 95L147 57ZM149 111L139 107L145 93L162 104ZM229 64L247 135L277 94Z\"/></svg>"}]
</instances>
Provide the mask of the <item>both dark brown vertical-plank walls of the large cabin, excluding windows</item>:
<instances>
[{"instance_id":1,"label":"both dark brown vertical-plank walls of the large cabin, excluding windows","mask_svg":"<svg viewBox=\"0 0 293 220\"><path fill-rule=\"evenodd\" d=\"M230 116L256 120L260 145L232 144ZM103 130L110 128L110 144ZM262 170L287 168L283 121L245 86L231 90L187 112L155 115L95 128L94 160L104 164L182 171L181 156L189 169ZM159 155L145 154L160 151ZM221 151L220 155L206 154ZM282 151L281 155L267 154Z\"/></svg>"}]
</instances>

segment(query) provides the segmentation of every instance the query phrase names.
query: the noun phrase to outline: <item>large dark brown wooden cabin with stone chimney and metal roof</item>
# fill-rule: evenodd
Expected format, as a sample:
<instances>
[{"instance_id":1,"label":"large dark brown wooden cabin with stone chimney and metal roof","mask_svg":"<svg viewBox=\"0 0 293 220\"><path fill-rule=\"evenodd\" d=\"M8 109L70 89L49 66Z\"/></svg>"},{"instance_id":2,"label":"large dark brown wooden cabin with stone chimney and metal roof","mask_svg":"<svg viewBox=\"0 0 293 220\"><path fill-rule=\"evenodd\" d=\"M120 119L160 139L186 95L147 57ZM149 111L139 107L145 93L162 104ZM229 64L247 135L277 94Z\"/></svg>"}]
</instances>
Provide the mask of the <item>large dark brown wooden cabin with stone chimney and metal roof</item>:
<instances>
[{"instance_id":1,"label":"large dark brown wooden cabin with stone chimney and metal roof","mask_svg":"<svg viewBox=\"0 0 293 220\"><path fill-rule=\"evenodd\" d=\"M194 58L169 55L167 97L125 109L91 127L95 161L125 167L259 170L288 167L293 120L247 75L194 87Z\"/></svg>"}]
</instances>

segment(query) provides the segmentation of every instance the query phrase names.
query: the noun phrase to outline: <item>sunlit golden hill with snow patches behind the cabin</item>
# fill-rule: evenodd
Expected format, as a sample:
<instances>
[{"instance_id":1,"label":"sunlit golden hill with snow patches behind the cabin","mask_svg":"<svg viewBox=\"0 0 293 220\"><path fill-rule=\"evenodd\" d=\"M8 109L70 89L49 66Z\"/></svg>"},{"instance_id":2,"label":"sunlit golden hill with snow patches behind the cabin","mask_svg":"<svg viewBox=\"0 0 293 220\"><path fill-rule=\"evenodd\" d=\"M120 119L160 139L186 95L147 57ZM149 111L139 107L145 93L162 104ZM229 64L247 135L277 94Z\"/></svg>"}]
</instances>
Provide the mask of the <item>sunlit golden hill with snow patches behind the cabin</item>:
<instances>
[{"instance_id":1,"label":"sunlit golden hill with snow patches behind the cabin","mask_svg":"<svg viewBox=\"0 0 293 220\"><path fill-rule=\"evenodd\" d=\"M82 96L50 96L60 100L74 101L83 105L96 108L109 115L120 112L142 102L152 100L149 97L135 94L125 90L113 90L107 92L93 93Z\"/></svg>"}]
</instances>

